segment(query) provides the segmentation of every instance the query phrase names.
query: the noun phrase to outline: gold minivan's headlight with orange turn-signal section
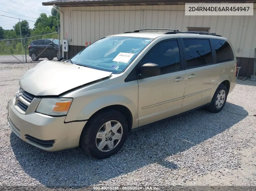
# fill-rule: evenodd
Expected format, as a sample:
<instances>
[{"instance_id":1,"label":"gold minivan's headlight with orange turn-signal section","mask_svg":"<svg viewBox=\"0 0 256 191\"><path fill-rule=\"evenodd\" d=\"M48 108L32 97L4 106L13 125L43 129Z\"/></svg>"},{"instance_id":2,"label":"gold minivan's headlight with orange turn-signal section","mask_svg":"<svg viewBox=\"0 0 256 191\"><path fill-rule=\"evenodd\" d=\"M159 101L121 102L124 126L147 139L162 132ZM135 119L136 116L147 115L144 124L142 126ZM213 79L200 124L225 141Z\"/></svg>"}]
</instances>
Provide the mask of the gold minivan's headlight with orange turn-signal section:
<instances>
[{"instance_id":1,"label":"gold minivan's headlight with orange turn-signal section","mask_svg":"<svg viewBox=\"0 0 256 191\"><path fill-rule=\"evenodd\" d=\"M72 98L42 98L36 112L49 116L67 115Z\"/></svg>"}]
</instances>

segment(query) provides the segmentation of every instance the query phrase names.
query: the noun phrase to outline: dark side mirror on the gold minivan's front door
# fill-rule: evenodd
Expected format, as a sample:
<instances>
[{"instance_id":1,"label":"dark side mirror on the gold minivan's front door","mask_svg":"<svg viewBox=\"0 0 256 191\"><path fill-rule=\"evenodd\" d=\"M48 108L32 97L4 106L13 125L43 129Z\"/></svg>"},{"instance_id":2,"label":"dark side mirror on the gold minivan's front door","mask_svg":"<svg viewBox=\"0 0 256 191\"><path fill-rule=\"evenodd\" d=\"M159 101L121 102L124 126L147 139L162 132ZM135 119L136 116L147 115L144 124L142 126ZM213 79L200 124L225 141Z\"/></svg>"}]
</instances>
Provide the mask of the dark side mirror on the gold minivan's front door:
<instances>
[{"instance_id":1,"label":"dark side mirror on the gold minivan's front door","mask_svg":"<svg viewBox=\"0 0 256 191\"><path fill-rule=\"evenodd\" d=\"M146 63L141 66L141 73L138 74L138 77L147 78L157 75L160 75L160 66L154 63Z\"/></svg>"}]
</instances>

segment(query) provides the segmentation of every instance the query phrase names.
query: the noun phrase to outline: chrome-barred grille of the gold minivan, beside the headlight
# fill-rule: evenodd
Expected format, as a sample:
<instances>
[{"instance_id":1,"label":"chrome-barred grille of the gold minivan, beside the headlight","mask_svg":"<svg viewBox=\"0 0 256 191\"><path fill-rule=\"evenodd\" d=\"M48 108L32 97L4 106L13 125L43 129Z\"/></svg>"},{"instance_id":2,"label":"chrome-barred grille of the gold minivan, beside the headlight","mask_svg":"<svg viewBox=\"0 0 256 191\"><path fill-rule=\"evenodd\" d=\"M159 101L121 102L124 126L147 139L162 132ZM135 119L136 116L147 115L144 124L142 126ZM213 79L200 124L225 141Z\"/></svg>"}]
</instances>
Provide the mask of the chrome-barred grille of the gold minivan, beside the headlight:
<instances>
[{"instance_id":1,"label":"chrome-barred grille of the gold minivan, beside the headlight","mask_svg":"<svg viewBox=\"0 0 256 191\"><path fill-rule=\"evenodd\" d=\"M25 112L35 96L20 88L17 98L17 106Z\"/></svg>"}]
</instances>

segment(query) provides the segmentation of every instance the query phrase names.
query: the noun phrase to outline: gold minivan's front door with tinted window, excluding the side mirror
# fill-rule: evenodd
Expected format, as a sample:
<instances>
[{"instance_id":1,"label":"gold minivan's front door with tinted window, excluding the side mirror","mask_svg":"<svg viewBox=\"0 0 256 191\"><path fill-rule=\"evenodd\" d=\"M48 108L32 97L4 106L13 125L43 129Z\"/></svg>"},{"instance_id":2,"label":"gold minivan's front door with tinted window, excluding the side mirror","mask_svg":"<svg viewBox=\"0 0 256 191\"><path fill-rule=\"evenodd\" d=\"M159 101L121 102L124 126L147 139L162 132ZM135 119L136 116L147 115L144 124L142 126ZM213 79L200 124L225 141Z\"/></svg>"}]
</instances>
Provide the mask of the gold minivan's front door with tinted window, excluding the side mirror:
<instances>
[{"instance_id":1,"label":"gold minivan's front door with tinted window, excluding the side mirror","mask_svg":"<svg viewBox=\"0 0 256 191\"><path fill-rule=\"evenodd\" d=\"M185 90L185 71L177 39L157 43L138 64L155 63L161 74L138 79L139 126L152 123L181 112Z\"/></svg>"}]
</instances>

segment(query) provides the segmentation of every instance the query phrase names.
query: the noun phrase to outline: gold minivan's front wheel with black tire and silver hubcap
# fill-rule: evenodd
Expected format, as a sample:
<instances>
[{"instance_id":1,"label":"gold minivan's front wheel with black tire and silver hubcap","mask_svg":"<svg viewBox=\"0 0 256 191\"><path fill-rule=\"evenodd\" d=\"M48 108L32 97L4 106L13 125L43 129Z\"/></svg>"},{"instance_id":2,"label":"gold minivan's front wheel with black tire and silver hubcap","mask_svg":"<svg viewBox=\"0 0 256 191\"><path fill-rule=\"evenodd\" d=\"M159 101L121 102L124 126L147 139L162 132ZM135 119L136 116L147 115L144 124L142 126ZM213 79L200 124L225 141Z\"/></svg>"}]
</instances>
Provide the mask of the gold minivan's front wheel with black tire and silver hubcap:
<instances>
[{"instance_id":1,"label":"gold minivan's front wheel with black tire and silver hubcap","mask_svg":"<svg viewBox=\"0 0 256 191\"><path fill-rule=\"evenodd\" d=\"M116 110L101 112L85 125L80 146L92 157L103 159L116 154L128 135L125 116Z\"/></svg>"}]
</instances>

